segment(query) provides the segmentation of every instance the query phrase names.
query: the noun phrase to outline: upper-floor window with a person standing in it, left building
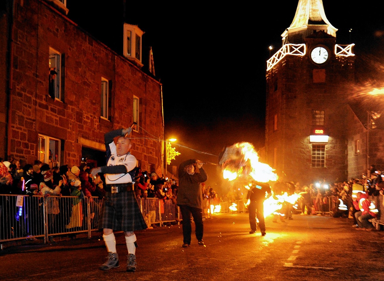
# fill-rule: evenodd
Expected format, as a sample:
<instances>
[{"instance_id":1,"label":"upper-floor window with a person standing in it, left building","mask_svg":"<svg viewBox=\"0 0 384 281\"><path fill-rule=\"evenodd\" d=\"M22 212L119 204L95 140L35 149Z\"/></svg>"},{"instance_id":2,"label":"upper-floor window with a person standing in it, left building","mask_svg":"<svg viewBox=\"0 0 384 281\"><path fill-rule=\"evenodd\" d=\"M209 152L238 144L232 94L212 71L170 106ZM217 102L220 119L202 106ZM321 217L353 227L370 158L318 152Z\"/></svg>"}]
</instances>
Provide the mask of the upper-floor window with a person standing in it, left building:
<instances>
[{"instance_id":1,"label":"upper-floor window with a person standing in it, left building","mask_svg":"<svg viewBox=\"0 0 384 281\"><path fill-rule=\"evenodd\" d=\"M61 86L61 54L52 48L49 48L49 86L48 93L51 98L63 100Z\"/></svg>"}]
</instances>

